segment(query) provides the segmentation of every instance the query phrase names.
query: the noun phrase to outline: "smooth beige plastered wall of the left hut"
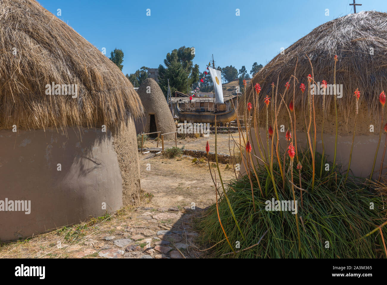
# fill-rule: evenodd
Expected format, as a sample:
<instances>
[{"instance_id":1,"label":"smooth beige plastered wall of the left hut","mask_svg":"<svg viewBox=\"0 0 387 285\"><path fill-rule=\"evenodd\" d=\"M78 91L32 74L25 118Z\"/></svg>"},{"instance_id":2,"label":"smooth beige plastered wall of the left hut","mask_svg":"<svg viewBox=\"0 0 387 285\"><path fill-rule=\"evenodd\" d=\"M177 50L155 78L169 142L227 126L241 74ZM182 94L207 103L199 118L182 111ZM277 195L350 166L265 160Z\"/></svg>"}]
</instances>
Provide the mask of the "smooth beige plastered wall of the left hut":
<instances>
[{"instance_id":1,"label":"smooth beige plastered wall of the left hut","mask_svg":"<svg viewBox=\"0 0 387 285\"><path fill-rule=\"evenodd\" d=\"M131 128L135 136L133 124ZM111 133L66 131L67 137L61 130L0 130L0 200L31 200L29 215L0 211L2 241L30 237L122 207L122 179ZM138 175L138 158L137 164L133 161ZM62 171L57 171L57 163Z\"/></svg>"}]
</instances>

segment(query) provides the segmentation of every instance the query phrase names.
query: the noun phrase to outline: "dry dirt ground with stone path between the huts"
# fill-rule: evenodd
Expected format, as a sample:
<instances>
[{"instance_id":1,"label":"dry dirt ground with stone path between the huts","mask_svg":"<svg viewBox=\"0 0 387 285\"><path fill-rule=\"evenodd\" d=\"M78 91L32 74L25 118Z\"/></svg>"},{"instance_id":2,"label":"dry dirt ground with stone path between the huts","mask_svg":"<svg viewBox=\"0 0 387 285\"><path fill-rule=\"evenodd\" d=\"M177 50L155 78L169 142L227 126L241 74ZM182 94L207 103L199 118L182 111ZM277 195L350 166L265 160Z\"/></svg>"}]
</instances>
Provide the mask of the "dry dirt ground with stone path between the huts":
<instances>
[{"instance_id":1,"label":"dry dirt ground with stone path between the huts","mask_svg":"<svg viewBox=\"0 0 387 285\"><path fill-rule=\"evenodd\" d=\"M214 150L214 136L179 139L187 149ZM219 135L219 152L228 153L228 135ZM166 141L166 146L175 144ZM154 144L147 141L146 144ZM149 146L150 146L149 145ZM156 145L154 145L156 146ZM61 227L17 242L0 243L0 258L199 258L192 219L215 202L215 187L207 161L192 163L181 156L139 154L140 206L113 216ZM233 168L220 165L223 180L235 178ZM195 206L195 207L193 207Z\"/></svg>"}]
</instances>

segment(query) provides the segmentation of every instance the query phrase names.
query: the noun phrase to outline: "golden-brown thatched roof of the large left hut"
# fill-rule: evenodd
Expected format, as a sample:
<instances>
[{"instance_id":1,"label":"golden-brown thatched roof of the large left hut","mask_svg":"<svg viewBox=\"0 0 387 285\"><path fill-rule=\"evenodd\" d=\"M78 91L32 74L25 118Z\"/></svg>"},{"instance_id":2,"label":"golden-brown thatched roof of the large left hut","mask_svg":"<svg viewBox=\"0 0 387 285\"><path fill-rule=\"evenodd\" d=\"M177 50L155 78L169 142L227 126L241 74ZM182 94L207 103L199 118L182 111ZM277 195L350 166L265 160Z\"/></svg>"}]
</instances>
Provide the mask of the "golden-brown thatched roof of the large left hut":
<instances>
[{"instance_id":1,"label":"golden-brown thatched roof of the large left hut","mask_svg":"<svg viewBox=\"0 0 387 285\"><path fill-rule=\"evenodd\" d=\"M38 2L0 1L0 39L0 129L112 126L142 114L121 70ZM78 84L77 98L46 95L51 82Z\"/></svg>"}]
</instances>

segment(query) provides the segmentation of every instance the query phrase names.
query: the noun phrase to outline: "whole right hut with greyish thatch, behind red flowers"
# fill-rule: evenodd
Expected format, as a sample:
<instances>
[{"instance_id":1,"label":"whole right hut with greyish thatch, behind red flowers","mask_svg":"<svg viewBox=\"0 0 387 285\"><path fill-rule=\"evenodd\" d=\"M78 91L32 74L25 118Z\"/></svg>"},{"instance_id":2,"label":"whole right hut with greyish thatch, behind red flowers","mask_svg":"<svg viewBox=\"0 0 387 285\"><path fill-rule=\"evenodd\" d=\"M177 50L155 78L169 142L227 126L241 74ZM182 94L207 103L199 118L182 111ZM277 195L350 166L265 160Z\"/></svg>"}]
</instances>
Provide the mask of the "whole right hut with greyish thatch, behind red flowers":
<instances>
[{"instance_id":1,"label":"whole right hut with greyish thatch, behind red flowers","mask_svg":"<svg viewBox=\"0 0 387 285\"><path fill-rule=\"evenodd\" d=\"M361 97L351 170L353 170L355 175L367 177L372 169L373 157L378 143L378 134L382 124L380 121L382 106L378 102L378 95L383 90L387 91L386 13L376 11L359 12L340 17L316 27L311 33L284 50L283 54L280 53L265 65L252 79L251 84L248 85L247 96L244 98L246 102L253 103L253 86L256 83L260 84L262 89L259 94L259 115L260 117L262 116L261 123L264 122L263 125L265 125L265 96L271 97L270 104L275 103L275 98L272 96L272 82L278 88L277 104L281 100L279 94L285 93L286 82L290 82L290 88L284 98L286 104L289 105L290 101L293 100L292 76L295 75L294 108L298 117L296 125L297 141L300 141L300 144L304 143L304 146L306 146L304 118L308 118L309 114L309 111L307 111L308 96L306 95L307 91L303 94L299 86L303 83L308 87L308 74L314 76L315 82L320 82L321 84L322 80L326 80L328 85L333 84L335 55L338 57L336 84L339 84L337 89L339 130L337 161L339 164L342 164L344 169L348 167L356 105L356 97L353 94L356 88L358 88ZM341 91L341 94L339 94L339 91ZM324 144L325 155L329 156L328 161L333 161L336 116L334 112L334 95L332 90L328 92L325 96ZM254 94L256 94L255 91ZM322 93L315 94L314 96L317 151L320 153L322 152L320 132L322 127L323 98ZM243 108L245 108L245 104L240 104L240 112L243 112ZM261 111L262 109L263 112ZM281 112L278 117L278 125L284 125L286 131L286 128L289 127L288 111L286 108L282 108ZM271 115L269 115L269 124L271 122ZM374 130L370 131L370 125L374 126ZM261 130L263 141L266 141L265 134L266 130ZM280 133L279 136L283 140L281 145L286 146L284 133ZM384 139L381 142L382 146L383 144ZM383 148L380 147L377 157L379 163L382 153Z\"/></svg>"}]
</instances>

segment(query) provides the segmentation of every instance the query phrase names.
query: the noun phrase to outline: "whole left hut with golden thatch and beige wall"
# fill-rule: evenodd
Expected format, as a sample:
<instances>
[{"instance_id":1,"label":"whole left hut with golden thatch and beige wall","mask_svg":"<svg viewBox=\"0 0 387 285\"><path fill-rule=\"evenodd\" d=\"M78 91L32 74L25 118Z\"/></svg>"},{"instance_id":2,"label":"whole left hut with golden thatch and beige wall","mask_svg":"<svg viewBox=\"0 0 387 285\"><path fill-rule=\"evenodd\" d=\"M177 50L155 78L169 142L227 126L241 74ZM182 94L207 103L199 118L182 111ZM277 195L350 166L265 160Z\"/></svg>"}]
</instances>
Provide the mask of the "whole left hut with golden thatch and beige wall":
<instances>
[{"instance_id":1,"label":"whole left hut with golden thatch and beige wall","mask_svg":"<svg viewBox=\"0 0 387 285\"><path fill-rule=\"evenodd\" d=\"M132 84L34 0L0 2L0 37L0 239L134 203L142 104ZM30 213L5 211L4 198L30 201Z\"/></svg>"}]
</instances>

